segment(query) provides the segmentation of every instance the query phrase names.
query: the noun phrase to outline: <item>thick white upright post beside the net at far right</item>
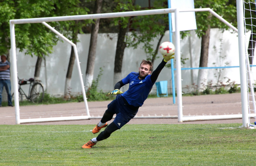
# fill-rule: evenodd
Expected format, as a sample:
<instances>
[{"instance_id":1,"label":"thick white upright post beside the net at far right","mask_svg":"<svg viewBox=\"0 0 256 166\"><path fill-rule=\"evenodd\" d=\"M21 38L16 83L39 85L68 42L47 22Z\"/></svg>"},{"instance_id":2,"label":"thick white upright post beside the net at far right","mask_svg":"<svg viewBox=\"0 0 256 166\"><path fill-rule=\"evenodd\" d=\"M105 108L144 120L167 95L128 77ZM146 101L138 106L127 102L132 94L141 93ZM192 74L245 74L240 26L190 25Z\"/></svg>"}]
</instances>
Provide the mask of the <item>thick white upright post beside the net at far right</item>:
<instances>
[{"instance_id":1,"label":"thick white upright post beside the net at far right","mask_svg":"<svg viewBox=\"0 0 256 166\"><path fill-rule=\"evenodd\" d=\"M238 25L238 44L239 44L239 65L241 81L241 101L242 101L242 121L243 127L249 123L248 117L248 97L247 97L247 78L246 78L246 56L245 56L245 34L244 34L244 15L243 1L236 0L237 25Z\"/></svg>"}]
</instances>

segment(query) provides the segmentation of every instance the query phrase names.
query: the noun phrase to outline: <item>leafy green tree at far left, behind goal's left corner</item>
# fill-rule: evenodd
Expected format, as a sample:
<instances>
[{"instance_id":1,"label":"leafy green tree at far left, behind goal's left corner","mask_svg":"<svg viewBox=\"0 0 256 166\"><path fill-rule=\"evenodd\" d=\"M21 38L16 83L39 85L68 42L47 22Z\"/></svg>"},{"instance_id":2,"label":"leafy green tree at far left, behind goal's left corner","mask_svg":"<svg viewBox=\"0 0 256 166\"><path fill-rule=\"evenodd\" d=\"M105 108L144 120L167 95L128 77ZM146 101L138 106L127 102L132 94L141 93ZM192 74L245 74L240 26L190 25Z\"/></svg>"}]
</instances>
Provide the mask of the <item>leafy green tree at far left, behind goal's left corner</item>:
<instances>
[{"instance_id":1,"label":"leafy green tree at far left, behind goal's left corner","mask_svg":"<svg viewBox=\"0 0 256 166\"><path fill-rule=\"evenodd\" d=\"M54 1L2 1L0 2L0 52L9 56L9 20L35 17L49 17L54 10ZM42 57L52 52L58 38L41 24L15 25L16 47L26 50L27 55L37 56L34 78L39 79Z\"/></svg>"}]
</instances>

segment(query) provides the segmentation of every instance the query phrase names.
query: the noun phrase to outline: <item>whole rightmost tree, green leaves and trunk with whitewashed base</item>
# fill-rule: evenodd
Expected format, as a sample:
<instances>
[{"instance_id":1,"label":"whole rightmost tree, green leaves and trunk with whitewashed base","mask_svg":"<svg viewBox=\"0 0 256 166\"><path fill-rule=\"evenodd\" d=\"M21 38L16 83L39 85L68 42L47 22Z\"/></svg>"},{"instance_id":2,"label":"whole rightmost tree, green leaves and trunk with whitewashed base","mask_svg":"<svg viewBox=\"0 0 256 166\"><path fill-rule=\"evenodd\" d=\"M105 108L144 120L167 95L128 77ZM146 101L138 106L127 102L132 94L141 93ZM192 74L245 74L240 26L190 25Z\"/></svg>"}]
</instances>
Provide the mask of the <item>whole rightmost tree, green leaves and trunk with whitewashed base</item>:
<instances>
[{"instance_id":1,"label":"whole rightmost tree, green leaves and trunk with whitewashed base","mask_svg":"<svg viewBox=\"0 0 256 166\"><path fill-rule=\"evenodd\" d=\"M211 8L224 19L232 19L236 15L236 7L230 4L228 0L196 0L195 8ZM209 12L196 12L197 30L196 33L201 41L201 54L199 67L207 67L208 65L208 51L210 41L210 28L225 28L228 27L219 19L212 16ZM198 91L203 91L207 85L207 70L199 69L198 71Z\"/></svg>"}]
</instances>

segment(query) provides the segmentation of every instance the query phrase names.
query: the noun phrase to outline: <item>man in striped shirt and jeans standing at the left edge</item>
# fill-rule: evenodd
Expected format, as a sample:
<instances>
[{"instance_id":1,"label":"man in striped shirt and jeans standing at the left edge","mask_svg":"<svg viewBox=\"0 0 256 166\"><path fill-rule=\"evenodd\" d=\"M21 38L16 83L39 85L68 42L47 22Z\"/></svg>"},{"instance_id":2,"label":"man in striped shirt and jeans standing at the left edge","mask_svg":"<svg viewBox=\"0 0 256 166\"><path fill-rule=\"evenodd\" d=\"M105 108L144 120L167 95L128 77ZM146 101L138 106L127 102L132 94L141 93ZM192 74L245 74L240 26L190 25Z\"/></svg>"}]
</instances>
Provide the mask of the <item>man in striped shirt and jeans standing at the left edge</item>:
<instances>
[{"instance_id":1,"label":"man in striped shirt and jeans standing at the left edge","mask_svg":"<svg viewBox=\"0 0 256 166\"><path fill-rule=\"evenodd\" d=\"M2 107L3 86L8 94L8 106L13 107L11 96L10 62L6 60L5 54L1 55L0 62L0 107Z\"/></svg>"}]
</instances>

